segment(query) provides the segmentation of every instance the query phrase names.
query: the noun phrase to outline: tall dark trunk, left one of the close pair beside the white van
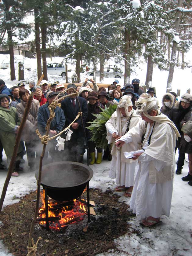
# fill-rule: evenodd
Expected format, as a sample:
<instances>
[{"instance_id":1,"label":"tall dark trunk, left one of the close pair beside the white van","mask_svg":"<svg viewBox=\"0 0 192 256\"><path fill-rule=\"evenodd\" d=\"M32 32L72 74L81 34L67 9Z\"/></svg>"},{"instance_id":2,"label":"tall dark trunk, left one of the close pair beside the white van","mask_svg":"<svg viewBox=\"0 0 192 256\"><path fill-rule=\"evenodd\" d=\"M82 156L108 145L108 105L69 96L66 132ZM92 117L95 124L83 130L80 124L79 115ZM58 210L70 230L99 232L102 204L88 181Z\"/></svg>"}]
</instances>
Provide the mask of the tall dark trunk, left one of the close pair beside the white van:
<instances>
[{"instance_id":1,"label":"tall dark trunk, left one of the close pair beside the white van","mask_svg":"<svg viewBox=\"0 0 192 256\"><path fill-rule=\"evenodd\" d=\"M35 47L37 55L37 77L39 80L42 76L42 67L41 67L41 46L40 46L40 31L39 31L39 10L37 7L34 8L34 20L35 20Z\"/></svg>"}]
</instances>

